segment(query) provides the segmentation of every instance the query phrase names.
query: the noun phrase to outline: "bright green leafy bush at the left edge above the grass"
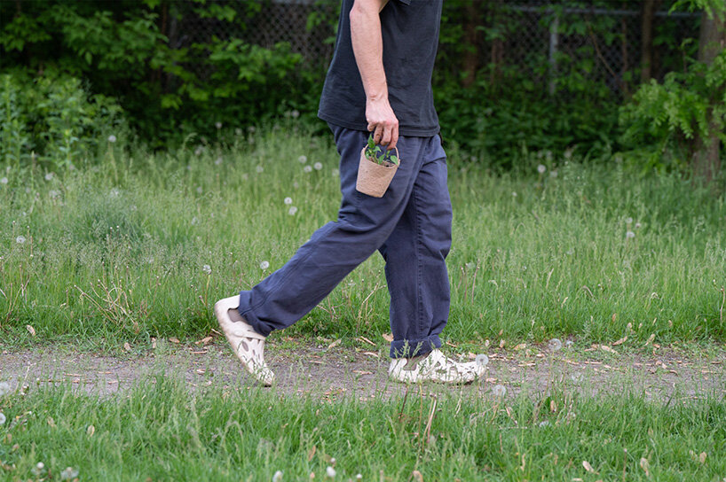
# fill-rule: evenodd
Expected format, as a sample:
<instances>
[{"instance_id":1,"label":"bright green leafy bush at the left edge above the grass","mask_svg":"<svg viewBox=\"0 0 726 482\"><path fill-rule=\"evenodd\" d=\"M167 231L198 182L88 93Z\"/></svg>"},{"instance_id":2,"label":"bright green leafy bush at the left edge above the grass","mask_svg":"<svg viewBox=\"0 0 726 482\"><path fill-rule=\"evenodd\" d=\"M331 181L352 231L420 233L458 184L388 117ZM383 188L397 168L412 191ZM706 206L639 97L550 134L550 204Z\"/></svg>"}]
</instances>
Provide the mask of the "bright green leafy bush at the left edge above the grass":
<instances>
[{"instance_id":1,"label":"bright green leafy bush at the left edge above the grass","mask_svg":"<svg viewBox=\"0 0 726 482\"><path fill-rule=\"evenodd\" d=\"M67 74L47 70L31 78L16 71L0 75L0 85L0 160L9 167L72 167L95 155L107 135L125 131L114 99L91 95Z\"/></svg>"}]
</instances>

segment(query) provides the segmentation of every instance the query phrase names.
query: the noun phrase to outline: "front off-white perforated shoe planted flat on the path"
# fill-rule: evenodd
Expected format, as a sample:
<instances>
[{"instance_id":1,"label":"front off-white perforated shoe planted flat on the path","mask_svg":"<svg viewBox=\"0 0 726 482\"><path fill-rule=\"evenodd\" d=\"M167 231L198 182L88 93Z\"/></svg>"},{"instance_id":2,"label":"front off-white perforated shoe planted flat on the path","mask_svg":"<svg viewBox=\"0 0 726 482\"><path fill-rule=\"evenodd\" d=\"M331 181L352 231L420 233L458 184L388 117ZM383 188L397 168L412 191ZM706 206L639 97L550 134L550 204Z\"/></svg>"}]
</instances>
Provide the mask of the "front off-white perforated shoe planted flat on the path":
<instances>
[{"instance_id":1,"label":"front off-white perforated shoe planted flat on the path","mask_svg":"<svg viewBox=\"0 0 726 482\"><path fill-rule=\"evenodd\" d=\"M435 349L428 355L391 360L388 376L406 384L437 382L442 384L470 384L483 377L486 367L478 362L455 362Z\"/></svg>"}]
</instances>

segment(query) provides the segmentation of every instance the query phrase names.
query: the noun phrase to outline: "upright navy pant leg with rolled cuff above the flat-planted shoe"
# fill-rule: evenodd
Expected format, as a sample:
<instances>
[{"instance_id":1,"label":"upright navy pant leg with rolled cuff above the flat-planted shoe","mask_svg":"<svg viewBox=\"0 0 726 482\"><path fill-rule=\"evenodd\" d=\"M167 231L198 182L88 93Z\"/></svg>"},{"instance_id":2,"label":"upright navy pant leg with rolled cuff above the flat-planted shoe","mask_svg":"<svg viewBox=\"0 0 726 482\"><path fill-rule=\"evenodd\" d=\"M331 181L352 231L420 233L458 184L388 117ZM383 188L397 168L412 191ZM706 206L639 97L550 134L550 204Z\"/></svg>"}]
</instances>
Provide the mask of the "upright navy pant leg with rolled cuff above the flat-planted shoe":
<instances>
[{"instance_id":1,"label":"upright navy pant leg with rolled cuff above the flat-planted shoe","mask_svg":"<svg viewBox=\"0 0 726 482\"><path fill-rule=\"evenodd\" d=\"M451 248L452 208L446 154L438 137L422 152L423 163L399 223L381 246L391 295L391 357L427 354L449 315L446 255Z\"/></svg>"}]
</instances>

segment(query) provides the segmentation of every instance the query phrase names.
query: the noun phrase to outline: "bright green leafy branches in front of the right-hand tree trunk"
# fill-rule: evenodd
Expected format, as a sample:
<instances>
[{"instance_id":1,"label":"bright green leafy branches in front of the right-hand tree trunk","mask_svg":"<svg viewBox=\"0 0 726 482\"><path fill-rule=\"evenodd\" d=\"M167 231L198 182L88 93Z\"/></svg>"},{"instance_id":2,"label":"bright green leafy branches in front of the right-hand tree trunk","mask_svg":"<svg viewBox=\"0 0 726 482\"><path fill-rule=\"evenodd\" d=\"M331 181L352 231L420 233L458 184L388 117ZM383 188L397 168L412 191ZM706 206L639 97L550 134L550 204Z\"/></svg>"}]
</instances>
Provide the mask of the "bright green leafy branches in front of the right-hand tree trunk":
<instances>
[{"instance_id":1,"label":"bright green leafy branches in front of the right-hand tree trunk","mask_svg":"<svg viewBox=\"0 0 726 482\"><path fill-rule=\"evenodd\" d=\"M683 159L712 133L726 142L726 50L711 65L691 60L685 72L641 85L620 110L624 144L646 152L645 167ZM663 154L667 154L664 158Z\"/></svg>"}]
</instances>

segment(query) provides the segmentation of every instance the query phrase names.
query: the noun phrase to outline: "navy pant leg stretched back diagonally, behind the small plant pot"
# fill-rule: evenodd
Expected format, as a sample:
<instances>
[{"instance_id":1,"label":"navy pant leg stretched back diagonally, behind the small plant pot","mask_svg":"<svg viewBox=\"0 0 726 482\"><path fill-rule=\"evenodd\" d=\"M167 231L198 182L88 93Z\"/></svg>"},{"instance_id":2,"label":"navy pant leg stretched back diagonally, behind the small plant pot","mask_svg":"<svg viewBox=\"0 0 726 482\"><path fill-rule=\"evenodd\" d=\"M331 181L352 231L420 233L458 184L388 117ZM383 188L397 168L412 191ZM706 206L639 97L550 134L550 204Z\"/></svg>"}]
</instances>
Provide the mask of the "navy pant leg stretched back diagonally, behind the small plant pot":
<instances>
[{"instance_id":1,"label":"navy pant leg stretched back diagonally, behind the small plant pot","mask_svg":"<svg viewBox=\"0 0 726 482\"><path fill-rule=\"evenodd\" d=\"M341 155L343 194L338 219L313 233L288 262L240 293L240 314L260 334L282 330L316 307L391 235L422 166L426 137L400 137L401 163L383 198L355 190L367 132L331 126Z\"/></svg>"}]
</instances>

